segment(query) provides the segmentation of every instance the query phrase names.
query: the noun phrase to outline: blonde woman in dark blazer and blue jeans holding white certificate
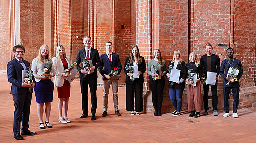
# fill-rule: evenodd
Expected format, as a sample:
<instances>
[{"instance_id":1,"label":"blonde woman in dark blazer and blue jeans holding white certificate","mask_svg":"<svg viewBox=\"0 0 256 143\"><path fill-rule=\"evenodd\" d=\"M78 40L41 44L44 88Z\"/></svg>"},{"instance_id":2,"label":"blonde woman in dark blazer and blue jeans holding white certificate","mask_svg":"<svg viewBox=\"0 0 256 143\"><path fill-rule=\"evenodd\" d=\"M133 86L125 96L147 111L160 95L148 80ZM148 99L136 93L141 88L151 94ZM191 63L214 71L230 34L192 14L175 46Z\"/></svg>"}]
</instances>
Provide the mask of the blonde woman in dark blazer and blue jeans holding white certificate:
<instances>
[{"instance_id":1,"label":"blonde woman in dark blazer and blue jeans holding white certificate","mask_svg":"<svg viewBox=\"0 0 256 143\"><path fill-rule=\"evenodd\" d=\"M181 53L179 50L174 51L173 60L169 62L168 65L171 69L179 69L180 70L180 77L179 81L177 82L169 82L169 94L170 100L173 103L174 111L171 113L173 116L180 115L180 108L182 104L182 94L185 88L185 76L186 76L186 67L185 62L181 59ZM170 78L170 73L166 74L168 78Z\"/></svg>"}]
</instances>

